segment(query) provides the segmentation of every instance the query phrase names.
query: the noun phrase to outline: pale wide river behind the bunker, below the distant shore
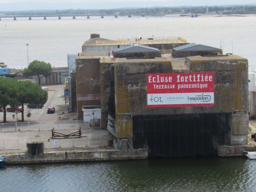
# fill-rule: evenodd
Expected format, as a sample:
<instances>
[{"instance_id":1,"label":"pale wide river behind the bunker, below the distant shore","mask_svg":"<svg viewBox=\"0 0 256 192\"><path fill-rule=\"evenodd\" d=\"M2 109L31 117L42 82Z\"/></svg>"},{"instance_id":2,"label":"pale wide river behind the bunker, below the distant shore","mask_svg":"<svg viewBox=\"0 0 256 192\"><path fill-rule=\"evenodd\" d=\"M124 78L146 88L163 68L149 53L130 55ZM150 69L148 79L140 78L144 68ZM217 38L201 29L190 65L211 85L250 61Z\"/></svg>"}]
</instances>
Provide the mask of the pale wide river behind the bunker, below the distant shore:
<instances>
[{"instance_id":1,"label":"pale wide river behind the bunker, below the distant shore","mask_svg":"<svg viewBox=\"0 0 256 192\"><path fill-rule=\"evenodd\" d=\"M249 17L132 17L92 16L50 18L1 18L0 62L11 68L27 66L34 59L66 66L67 53L81 51L90 33L116 39L138 36L182 36L188 42L221 47L224 53L233 52L246 57L254 69L256 56L256 16Z\"/></svg>"}]
</instances>

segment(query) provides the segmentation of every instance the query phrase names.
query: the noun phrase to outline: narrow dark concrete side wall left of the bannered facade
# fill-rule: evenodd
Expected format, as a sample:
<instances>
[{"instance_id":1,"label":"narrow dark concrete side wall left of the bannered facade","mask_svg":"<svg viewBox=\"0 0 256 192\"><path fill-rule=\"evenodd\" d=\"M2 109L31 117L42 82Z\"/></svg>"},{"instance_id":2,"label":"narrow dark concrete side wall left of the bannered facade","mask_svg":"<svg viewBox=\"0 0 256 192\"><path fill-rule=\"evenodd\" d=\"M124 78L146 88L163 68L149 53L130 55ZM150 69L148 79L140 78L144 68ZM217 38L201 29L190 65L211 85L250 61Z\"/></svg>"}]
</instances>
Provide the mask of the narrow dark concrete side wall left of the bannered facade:
<instances>
[{"instance_id":1,"label":"narrow dark concrete side wall left of the bannered facade","mask_svg":"<svg viewBox=\"0 0 256 192\"><path fill-rule=\"evenodd\" d=\"M101 128L107 128L108 113L114 116L114 67L113 63L100 62Z\"/></svg>"}]
</instances>

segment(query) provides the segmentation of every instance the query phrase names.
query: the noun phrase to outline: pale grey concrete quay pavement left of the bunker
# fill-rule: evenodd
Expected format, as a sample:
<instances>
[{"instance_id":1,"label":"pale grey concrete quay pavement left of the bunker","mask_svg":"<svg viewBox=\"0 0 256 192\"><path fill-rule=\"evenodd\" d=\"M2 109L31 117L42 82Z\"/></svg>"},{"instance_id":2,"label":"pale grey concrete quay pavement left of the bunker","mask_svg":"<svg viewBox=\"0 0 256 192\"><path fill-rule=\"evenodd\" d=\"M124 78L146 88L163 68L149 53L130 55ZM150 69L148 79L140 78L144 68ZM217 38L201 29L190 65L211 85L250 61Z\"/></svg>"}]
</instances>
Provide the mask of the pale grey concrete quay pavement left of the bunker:
<instances>
[{"instance_id":1,"label":"pale grey concrete quay pavement left of the bunker","mask_svg":"<svg viewBox=\"0 0 256 192\"><path fill-rule=\"evenodd\" d=\"M67 112L68 103L64 103L63 85L47 86L48 90L52 91L51 98L47 101L43 112L38 120L42 121L41 127L46 126L47 123L56 121L58 114L61 111L61 119L70 120L69 127L64 128L61 123L58 124L56 131L67 134L75 132L78 127L81 127L82 135L79 138L51 138L51 130L44 130L34 128L31 125L30 131L5 131L0 132L0 154L19 153L26 150L27 142L43 141L46 151L56 150L81 150L81 149L104 149L108 145L108 140L113 140L113 136L108 130L103 130L100 127L92 128L88 124L80 123L76 124L75 112ZM53 114L47 114L47 107L54 106L56 112ZM58 120L61 122L62 120ZM73 127L73 128L72 128ZM59 129L59 130L58 130Z\"/></svg>"}]
</instances>

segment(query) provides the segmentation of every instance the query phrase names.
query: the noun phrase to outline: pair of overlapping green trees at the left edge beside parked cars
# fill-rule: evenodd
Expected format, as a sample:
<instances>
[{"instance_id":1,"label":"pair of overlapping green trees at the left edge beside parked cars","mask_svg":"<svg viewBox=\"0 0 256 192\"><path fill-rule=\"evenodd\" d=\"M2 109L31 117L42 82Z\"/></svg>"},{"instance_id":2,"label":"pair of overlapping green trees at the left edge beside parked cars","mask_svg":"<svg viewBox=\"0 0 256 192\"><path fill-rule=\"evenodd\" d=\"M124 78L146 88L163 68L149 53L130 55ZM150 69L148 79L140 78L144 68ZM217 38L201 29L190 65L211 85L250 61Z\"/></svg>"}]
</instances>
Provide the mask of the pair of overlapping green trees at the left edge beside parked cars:
<instances>
[{"instance_id":1,"label":"pair of overlapping green trees at the left edge beside parked cars","mask_svg":"<svg viewBox=\"0 0 256 192\"><path fill-rule=\"evenodd\" d=\"M21 121L24 121L24 103L45 103L47 91L30 81L0 77L0 105L3 107L3 122L6 122L6 106L16 107L21 104Z\"/></svg>"}]
</instances>

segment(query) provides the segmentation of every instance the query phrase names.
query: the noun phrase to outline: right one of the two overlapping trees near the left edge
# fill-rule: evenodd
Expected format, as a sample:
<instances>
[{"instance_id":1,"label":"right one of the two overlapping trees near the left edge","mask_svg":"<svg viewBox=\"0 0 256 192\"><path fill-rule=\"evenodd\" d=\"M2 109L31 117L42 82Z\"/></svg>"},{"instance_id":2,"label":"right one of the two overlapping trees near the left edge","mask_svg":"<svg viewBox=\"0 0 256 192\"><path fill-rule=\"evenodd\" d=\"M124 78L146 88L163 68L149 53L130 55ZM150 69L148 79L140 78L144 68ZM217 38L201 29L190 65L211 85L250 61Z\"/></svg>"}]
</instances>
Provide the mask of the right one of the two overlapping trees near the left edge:
<instances>
[{"instance_id":1,"label":"right one of the two overlapping trees near the left edge","mask_svg":"<svg viewBox=\"0 0 256 192\"><path fill-rule=\"evenodd\" d=\"M21 103L21 121L24 121L24 103L44 104L47 100L47 91L40 85L30 81L18 81L17 100Z\"/></svg>"}]
</instances>

